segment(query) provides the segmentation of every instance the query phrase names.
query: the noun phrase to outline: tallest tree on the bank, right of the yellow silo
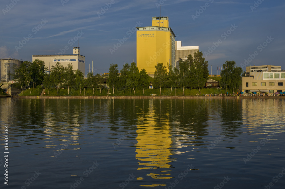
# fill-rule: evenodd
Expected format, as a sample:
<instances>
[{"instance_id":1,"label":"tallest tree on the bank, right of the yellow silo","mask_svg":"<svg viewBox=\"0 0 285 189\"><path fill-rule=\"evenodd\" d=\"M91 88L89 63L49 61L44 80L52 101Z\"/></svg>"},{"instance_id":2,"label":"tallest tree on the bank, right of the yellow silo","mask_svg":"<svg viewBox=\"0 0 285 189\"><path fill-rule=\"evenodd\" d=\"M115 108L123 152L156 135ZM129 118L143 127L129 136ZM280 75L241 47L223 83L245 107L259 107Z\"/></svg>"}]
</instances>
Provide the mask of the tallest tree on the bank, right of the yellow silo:
<instances>
[{"instance_id":1,"label":"tallest tree on the bank, right of the yellow silo","mask_svg":"<svg viewBox=\"0 0 285 189\"><path fill-rule=\"evenodd\" d=\"M199 89L199 93L201 94L200 88L203 88L209 76L208 61L205 61L201 51L195 52L194 58L189 55L188 61L190 63L191 84L194 88Z\"/></svg>"}]
</instances>

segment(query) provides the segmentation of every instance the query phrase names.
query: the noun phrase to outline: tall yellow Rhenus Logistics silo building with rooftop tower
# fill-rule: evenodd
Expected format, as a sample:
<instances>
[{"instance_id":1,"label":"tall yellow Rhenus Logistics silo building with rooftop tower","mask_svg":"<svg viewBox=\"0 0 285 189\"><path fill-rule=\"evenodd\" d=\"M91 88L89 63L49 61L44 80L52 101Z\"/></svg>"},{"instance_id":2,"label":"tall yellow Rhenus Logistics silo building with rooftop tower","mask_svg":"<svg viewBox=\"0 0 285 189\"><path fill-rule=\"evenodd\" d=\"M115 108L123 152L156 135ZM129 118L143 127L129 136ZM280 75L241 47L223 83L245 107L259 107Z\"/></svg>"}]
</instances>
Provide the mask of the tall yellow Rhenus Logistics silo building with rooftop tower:
<instances>
[{"instance_id":1,"label":"tall yellow Rhenus Logistics silo building with rooftop tower","mask_svg":"<svg viewBox=\"0 0 285 189\"><path fill-rule=\"evenodd\" d=\"M175 34L168 17L152 17L152 26L137 27L137 67L154 74L157 63L175 64Z\"/></svg>"}]
</instances>

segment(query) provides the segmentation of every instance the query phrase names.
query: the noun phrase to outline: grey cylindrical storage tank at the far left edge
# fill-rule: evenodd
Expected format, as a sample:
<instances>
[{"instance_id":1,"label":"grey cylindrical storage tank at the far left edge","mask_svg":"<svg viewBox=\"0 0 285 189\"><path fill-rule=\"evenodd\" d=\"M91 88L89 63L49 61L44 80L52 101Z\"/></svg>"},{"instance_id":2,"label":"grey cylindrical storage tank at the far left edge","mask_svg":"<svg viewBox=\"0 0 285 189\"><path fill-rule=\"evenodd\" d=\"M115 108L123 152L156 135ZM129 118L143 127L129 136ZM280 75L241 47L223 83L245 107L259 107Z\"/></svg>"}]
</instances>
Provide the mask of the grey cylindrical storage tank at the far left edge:
<instances>
[{"instance_id":1,"label":"grey cylindrical storage tank at the far left edge","mask_svg":"<svg viewBox=\"0 0 285 189\"><path fill-rule=\"evenodd\" d=\"M0 80L13 80L10 74L15 74L14 67L19 67L22 62L19 59L0 59Z\"/></svg>"}]
</instances>

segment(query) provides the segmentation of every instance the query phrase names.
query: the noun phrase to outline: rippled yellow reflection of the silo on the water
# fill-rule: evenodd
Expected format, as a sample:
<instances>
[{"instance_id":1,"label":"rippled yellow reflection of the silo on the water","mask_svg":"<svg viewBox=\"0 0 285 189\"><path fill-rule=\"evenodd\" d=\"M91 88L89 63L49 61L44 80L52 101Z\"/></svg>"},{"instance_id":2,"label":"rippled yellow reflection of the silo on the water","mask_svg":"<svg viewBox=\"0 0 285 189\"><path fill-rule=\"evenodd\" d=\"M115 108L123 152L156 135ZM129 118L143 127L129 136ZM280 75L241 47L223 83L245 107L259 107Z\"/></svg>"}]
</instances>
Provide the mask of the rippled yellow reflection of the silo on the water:
<instances>
[{"instance_id":1,"label":"rippled yellow reflection of the silo on the water","mask_svg":"<svg viewBox=\"0 0 285 189\"><path fill-rule=\"evenodd\" d=\"M136 159L139 160L138 170L151 169L150 173L145 176L151 176L154 179L169 179L170 168L169 156L172 155L172 140L169 129L169 119L165 119L159 123L154 121L155 117L154 99L149 100L149 108L142 112L142 116L138 117L137 123L137 149ZM163 170L158 168L164 168ZM137 178L142 180L143 177ZM141 186L166 186L165 184L141 185Z\"/></svg>"}]
</instances>

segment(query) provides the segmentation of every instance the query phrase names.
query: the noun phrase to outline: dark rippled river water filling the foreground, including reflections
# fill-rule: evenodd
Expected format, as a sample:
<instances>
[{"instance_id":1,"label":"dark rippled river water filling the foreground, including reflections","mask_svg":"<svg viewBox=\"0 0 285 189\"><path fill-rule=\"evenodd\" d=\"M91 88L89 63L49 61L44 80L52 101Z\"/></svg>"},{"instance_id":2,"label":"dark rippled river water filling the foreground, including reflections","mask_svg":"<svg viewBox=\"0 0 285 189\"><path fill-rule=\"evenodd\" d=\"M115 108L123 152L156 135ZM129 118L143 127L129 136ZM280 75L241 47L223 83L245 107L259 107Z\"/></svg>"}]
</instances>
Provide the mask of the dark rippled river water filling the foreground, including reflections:
<instances>
[{"instance_id":1,"label":"dark rippled river water filling the foreground, including reflections","mask_svg":"<svg viewBox=\"0 0 285 189\"><path fill-rule=\"evenodd\" d=\"M285 99L0 99L7 188L284 188ZM6 151L7 152L7 151ZM5 187L6 188L6 187Z\"/></svg>"}]
</instances>

